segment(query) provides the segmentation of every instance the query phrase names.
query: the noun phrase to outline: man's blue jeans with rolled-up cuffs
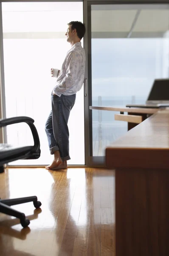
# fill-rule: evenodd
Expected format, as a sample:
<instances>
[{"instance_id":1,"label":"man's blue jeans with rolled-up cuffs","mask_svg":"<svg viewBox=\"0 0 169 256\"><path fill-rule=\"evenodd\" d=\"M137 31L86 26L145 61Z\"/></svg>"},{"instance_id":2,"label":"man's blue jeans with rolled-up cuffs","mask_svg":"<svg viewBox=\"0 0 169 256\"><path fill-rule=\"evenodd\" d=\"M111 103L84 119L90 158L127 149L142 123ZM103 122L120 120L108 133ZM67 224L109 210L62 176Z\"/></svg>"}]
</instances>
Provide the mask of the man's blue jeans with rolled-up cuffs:
<instances>
[{"instance_id":1,"label":"man's blue jeans with rolled-up cuffs","mask_svg":"<svg viewBox=\"0 0 169 256\"><path fill-rule=\"evenodd\" d=\"M70 160L68 119L76 100L76 94L51 95L52 111L45 124L50 153L60 151L63 161Z\"/></svg>"}]
</instances>

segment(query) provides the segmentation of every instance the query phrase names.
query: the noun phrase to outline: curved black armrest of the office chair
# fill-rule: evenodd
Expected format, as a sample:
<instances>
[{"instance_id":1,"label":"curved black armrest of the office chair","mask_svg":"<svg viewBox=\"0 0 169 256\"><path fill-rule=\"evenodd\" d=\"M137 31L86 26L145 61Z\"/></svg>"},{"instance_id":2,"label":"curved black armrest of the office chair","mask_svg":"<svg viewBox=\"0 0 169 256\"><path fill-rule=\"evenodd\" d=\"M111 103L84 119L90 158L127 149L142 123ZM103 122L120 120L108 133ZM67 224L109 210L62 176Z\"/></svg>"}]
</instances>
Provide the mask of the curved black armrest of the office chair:
<instances>
[{"instance_id":1,"label":"curved black armrest of the office chair","mask_svg":"<svg viewBox=\"0 0 169 256\"><path fill-rule=\"evenodd\" d=\"M39 141L39 135L37 132L37 128L34 125L34 119L28 116L15 116L15 117L10 117L10 118L3 118L0 119L0 128L7 126L7 125L13 125L17 124L20 122L25 122L29 125L33 138L34 138L34 147L33 147L33 152L36 152L40 149L40 141Z\"/></svg>"}]
</instances>

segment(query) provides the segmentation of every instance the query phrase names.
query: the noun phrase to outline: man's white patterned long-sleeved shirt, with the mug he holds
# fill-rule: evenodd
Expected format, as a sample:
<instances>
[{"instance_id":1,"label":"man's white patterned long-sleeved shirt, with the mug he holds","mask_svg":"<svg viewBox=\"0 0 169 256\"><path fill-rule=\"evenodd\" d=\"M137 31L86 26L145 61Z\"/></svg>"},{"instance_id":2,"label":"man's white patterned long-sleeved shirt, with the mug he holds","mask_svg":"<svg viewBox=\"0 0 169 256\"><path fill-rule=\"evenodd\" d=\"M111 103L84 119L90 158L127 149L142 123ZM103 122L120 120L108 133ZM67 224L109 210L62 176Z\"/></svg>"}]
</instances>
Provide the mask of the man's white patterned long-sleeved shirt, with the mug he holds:
<instances>
[{"instance_id":1,"label":"man's white patterned long-sleeved shirt, with the mug he holds","mask_svg":"<svg viewBox=\"0 0 169 256\"><path fill-rule=\"evenodd\" d=\"M85 49L78 42L68 51L60 72L58 69L53 70L53 76L57 77L53 93L60 97L62 94L72 95L78 92L85 79L85 61Z\"/></svg>"}]
</instances>

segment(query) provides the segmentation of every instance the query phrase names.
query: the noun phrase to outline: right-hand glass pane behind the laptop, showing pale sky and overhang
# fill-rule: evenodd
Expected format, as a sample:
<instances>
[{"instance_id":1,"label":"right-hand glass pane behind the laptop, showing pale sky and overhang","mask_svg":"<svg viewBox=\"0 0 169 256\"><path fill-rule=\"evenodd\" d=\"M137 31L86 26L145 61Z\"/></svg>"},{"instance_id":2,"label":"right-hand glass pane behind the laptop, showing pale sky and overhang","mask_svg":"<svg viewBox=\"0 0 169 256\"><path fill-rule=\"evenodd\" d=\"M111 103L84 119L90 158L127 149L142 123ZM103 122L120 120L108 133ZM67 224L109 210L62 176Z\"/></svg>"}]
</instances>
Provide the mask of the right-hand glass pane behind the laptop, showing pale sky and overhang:
<instances>
[{"instance_id":1,"label":"right-hand glass pane behind the laptop, showing pale sky and overhang","mask_svg":"<svg viewBox=\"0 0 169 256\"><path fill-rule=\"evenodd\" d=\"M92 5L91 35L93 106L144 104L154 79L169 77L168 5ZM127 122L92 113L93 156L104 156Z\"/></svg>"}]
</instances>

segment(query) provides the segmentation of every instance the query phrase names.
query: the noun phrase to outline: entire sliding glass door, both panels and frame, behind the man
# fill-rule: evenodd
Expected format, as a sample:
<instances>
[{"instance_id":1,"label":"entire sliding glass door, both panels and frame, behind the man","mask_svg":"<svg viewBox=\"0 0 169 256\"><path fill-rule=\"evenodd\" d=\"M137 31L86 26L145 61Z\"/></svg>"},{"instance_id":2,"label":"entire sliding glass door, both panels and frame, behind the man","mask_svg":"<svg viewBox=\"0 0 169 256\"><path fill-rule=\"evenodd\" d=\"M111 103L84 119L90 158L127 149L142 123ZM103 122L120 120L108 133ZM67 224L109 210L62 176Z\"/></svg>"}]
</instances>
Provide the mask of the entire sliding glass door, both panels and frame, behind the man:
<instances>
[{"instance_id":1,"label":"entire sliding glass door, both panels and frame, behind the man","mask_svg":"<svg viewBox=\"0 0 169 256\"><path fill-rule=\"evenodd\" d=\"M70 20L84 21L87 28L84 90L77 93L68 124L70 165L103 165L106 146L127 132L127 123L114 120L115 112L92 111L89 106L144 103L154 79L169 77L169 4L118 2L2 3L4 112L6 117L34 118L42 151L38 160L10 164L51 162L45 134L54 86L50 70L61 66L70 49L65 38ZM9 126L6 132L8 143L33 143L24 124Z\"/></svg>"}]
</instances>

